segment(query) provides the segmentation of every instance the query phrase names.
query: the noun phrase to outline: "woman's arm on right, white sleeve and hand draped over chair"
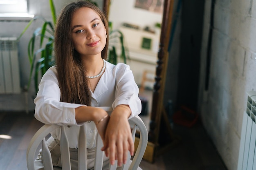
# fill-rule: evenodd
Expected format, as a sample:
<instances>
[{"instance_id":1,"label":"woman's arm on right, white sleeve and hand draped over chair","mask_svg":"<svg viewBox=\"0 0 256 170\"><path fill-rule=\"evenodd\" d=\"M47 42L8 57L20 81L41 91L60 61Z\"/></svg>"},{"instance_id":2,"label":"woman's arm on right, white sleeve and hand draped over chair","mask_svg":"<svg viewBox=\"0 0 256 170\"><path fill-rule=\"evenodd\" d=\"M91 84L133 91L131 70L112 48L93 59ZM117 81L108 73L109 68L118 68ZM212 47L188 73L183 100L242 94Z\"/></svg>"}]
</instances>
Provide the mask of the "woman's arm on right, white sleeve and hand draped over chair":
<instances>
[{"instance_id":1,"label":"woman's arm on right, white sleeve and hand draped over chair","mask_svg":"<svg viewBox=\"0 0 256 170\"><path fill-rule=\"evenodd\" d=\"M127 161L127 154L134 154L134 142L128 119L141 113L139 88L135 83L132 71L126 64L119 63L113 69L115 75L115 101L114 108L106 130L102 150L110 158L110 163L117 160L121 166Z\"/></svg>"}]
</instances>

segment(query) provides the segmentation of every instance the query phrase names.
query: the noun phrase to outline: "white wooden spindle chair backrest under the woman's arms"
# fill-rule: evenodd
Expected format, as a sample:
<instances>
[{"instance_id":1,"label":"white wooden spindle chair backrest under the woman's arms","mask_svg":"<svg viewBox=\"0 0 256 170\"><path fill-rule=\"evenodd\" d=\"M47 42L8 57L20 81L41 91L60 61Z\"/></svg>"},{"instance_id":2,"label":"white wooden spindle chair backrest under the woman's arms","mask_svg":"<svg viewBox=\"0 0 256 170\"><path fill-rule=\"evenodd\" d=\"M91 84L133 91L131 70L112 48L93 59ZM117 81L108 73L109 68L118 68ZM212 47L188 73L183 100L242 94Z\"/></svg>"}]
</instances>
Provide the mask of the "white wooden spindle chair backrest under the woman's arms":
<instances>
[{"instance_id":1,"label":"white wooden spindle chair backrest under the woman's arms","mask_svg":"<svg viewBox=\"0 0 256 170\"><path fill-rule=\"evenodd\" d=\"M106 110L106 107L104 108ZM132 127L132 137L133 141L135 141L135 133L136 131L139 132L139 145L135 152L135 155L130 163L127 161L126 164L123 165L123 170L137 170L144 152L146 150L146 146L148 143L148 131L146 129L145 124L141 120L139 116L135 116L129 119L130 125ZM69 152L69 144L67 140L67 135L65 133L64 126L60 125L44 125L42 126L36 134L32 137L28 149L27 149L27 168L28 170L34 170L34 158L35 153L38 150L39 145L42 144L42 157L43 157L43 164L45 170L53 170L52 166L52 157L50 151L47 147L45 137L49 135L50 132L54 131L57 128L61 128L61 140L60 140L60 147L61 147L61 163L62 163L62 170L71 170L71 163L70 163L70 152ZM79 130L79 139L78 139L78 169L79 170L86 170L87 165L85 160L87 160L86 155L86 140L85 140L85 125L80 126ZM97 134L96 139L96 151L95 151L95 161L94 161L94 169L95 170L102 170L103 166L103 154L104 152L101 151L103 146L103 142L99 133ZM128 159L131 159L130 153L128 153ZM115 165L111 166L109 170L116 170L117 169L117 161L115 161Z\"/></svg>"}]
</instances>

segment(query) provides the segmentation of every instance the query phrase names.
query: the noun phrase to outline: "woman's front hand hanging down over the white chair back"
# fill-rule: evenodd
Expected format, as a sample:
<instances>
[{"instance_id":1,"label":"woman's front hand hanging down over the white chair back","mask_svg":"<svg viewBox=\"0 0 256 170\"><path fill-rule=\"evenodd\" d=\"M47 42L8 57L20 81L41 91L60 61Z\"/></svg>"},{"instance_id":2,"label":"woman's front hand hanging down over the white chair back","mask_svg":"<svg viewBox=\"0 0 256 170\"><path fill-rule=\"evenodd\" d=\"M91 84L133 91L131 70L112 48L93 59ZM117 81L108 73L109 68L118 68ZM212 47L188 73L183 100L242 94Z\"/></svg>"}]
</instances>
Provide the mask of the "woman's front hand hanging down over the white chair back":
<instances>
[{"instance_id":1,"label":"woman's front hand hanging down over the white chair back","mask_svg":"<svg viewBox=\"0 0 256 170\"><path fill-rule=\"evenodd\" d=\"M106 156L110 158L110 163L113 165L115 160L118 166L121 166L127 161L127 153L134 153L134 142L132 140L131 128L128 122L130 116L130 108L126 105L117 106L110 117L106 129L105 140L103 140L103 148Z\"/></svg>"}]
</instances>

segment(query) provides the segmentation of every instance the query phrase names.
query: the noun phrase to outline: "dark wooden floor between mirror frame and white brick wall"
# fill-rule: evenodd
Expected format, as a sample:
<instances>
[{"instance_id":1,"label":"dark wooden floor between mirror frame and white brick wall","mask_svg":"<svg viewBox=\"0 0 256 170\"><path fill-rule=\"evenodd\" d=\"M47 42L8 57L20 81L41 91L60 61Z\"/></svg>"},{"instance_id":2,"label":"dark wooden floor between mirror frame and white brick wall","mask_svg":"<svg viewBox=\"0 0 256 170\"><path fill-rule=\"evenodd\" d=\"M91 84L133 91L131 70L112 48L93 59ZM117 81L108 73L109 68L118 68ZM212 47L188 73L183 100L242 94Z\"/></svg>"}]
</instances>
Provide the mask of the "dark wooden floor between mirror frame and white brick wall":
<instances>
[{"instance_id":1,"label":"dark wooden floor between mirror frame and white brick wall","mask_svg":"<svg viewBox=\"0 0 256 170\"><path fill-rule=\"evenodd\" d=\"M153 164L142 161L144 170L227 170L200 122L192 128L174 125L173 132L181 141Z\"/></svg>"}]
</instances>

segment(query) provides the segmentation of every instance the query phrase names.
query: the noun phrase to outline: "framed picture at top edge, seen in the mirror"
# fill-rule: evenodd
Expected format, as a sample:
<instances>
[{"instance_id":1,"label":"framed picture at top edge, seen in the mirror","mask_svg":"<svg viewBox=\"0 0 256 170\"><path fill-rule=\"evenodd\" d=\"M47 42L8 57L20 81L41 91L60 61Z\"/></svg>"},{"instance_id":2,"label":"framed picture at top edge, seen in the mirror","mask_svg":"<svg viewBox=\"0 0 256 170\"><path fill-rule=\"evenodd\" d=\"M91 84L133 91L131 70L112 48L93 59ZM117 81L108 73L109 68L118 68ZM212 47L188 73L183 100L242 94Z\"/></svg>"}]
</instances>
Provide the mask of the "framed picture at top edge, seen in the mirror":
<instances>
[{"instance_id":1,"label":"framed picture at top edge, seen in the mirror","mask_svg":"<svg viewBox=\"0 0 256 170\"><path fill-rule=\"evenodd\" d=\"M164 0L136 0L135 8L146 9L157 13L163 12Z\"/></svg>"}]
</instances>

